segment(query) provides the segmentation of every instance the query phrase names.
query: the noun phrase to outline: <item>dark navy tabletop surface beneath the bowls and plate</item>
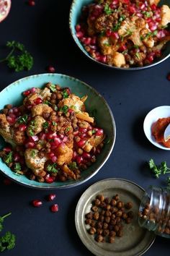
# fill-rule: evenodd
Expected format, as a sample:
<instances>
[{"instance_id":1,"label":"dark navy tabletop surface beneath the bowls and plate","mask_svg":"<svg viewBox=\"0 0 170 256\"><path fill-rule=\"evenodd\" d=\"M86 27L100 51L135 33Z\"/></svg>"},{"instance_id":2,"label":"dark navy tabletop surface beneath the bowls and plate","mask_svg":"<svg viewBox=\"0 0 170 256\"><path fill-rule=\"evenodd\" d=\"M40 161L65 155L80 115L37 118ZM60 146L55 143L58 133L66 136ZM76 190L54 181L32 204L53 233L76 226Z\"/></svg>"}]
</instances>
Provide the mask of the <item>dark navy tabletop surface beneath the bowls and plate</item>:
<instances>
[{"instance_id":1,"label":"dark navy tabletop surface beneath the bowls and plate","mask_svg":"<svg viewBox=\"0 0 170 256\"><path fill-rule=\"evenodd\" d=\"M76 47L68 29L71 0L36 1L29 7L26 1L12 1L9 17L0 24L0 59L6 54L7 40L19 40L35 59L30 72L11 72L0 64L0 86L30 74L45 72L53 64L56 72L77 77L99 91L112 108L117 126L115 148L109 160L89 182L71 189L53 191L57 195L58 213L50 213L50 203L32 208L30 201L44 198L48 191L28 189L17 184L4 186L0 176L0 215L12 212L5 221L4 231L17 235L17 245L11 256L90 256L76 233L74 213L76 203L89 185L101 179L129 179L143 188L149 184L164 185L164 179L154 179L146 161L167 161L169 151L155 148L143 134L143 119L152 108L170 105L170 59L157 67L140 72L119 72L102 67L87 59ZM1 100L1 99L0 99ZM156 237L147 256L169 255L169 240ZM107 255L106 255L107 256Z\"/></svg>"}]
</instances>

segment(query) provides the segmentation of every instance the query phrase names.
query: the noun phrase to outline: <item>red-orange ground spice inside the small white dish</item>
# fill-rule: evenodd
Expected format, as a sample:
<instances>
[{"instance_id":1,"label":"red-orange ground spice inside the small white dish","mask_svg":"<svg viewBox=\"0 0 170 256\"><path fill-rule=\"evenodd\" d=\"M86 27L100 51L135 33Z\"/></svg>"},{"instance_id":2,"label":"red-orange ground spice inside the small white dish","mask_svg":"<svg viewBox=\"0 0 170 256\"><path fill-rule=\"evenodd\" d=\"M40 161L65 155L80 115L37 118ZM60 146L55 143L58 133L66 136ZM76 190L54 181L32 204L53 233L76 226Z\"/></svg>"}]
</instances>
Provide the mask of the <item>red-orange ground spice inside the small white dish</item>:
<instances>
[{"instance_id":1,"label":"red-orange ground spice inside the small white dish","mask_svg":"<svg viewBox=\"0 0 170 256\"><path fill-rule=\"evenodd\" d=\"M161 143L166 148L170 148L170 140L164 140L164 132L170 123L170 117L158 119L151 127L152 135L155 137L156 142Z\"/></svg>"}]
</instances>

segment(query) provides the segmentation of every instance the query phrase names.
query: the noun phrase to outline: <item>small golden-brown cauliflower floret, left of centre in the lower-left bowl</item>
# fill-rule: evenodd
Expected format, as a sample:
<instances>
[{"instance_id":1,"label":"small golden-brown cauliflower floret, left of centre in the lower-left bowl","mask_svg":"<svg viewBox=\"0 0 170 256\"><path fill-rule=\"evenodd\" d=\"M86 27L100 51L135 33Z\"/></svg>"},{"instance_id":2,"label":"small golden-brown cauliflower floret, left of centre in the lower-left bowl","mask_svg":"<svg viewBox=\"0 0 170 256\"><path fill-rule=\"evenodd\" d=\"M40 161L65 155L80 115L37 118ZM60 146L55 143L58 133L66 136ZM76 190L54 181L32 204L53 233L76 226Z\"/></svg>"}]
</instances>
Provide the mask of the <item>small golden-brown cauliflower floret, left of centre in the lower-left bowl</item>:
<instances>
[{"instance_id":1,"label":"small golden-brown cauliflower floret, left of centre in the lower-left bowl","mask_svg":"<svg viewBox=\"0 0 170 256\"><path fill-rule=\"evenodd\" d=\"M27 127L27 135L33 136L37 135L39 132L42 132L42 124L45 123L45 119L43 119L42 116L35 116L32 121L30 121L30 124Z\"/></svg>"}]
</instances>

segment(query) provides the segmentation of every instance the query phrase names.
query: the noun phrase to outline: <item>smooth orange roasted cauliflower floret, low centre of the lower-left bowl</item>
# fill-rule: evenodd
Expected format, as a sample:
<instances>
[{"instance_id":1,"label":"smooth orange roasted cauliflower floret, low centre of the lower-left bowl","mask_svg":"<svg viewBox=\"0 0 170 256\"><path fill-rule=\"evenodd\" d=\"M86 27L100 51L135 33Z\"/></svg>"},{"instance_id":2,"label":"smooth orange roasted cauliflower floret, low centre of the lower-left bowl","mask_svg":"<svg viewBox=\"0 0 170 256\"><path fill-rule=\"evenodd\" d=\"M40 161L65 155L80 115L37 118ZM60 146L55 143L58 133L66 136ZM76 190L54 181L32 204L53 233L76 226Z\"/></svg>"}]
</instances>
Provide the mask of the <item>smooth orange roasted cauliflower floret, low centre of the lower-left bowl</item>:
<instances>
[{"instance_id":1,"label":"smooth orange roasted cauliflower floret, low centre of the lower-left bowl","mask_svg":"<svg viewBox=\"0 0 170 256\"><path fill-rule=\"evenodd\" d=\"M73 150L68 148L67 145L60 145L55 153L57 155L57 161L59 166L63 166L64 163L70 163L73 158Z\"/></svg>"}]
</instances>

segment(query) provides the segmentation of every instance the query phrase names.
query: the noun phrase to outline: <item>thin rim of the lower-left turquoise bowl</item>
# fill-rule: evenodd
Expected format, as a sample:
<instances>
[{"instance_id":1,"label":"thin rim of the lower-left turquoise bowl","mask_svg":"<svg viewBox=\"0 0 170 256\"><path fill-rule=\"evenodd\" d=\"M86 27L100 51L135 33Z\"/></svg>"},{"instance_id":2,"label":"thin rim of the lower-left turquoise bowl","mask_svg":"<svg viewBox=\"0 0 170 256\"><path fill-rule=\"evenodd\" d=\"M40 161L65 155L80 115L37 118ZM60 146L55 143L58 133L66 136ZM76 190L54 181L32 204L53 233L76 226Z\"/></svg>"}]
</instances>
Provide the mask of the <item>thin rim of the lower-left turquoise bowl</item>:
<instances>
[{"instance_id":1,"label":"thin rim of the lower-left turquoise bowl","mask_svg":"<svg viewBox=\"0 0 170 256\"><path fill-rule=\"evenodd\" d=\"M0 91L0 95L1 93L3 93L6 88L10 88L12 87L15 83L18 83L18 82L23 82L24 80L28 80L28 79L31 79L32 77L45 77L45 76L52 76L52 77L55 77L55 75L57 76L62 76L62 77L68 77L68 78L71 78L71 80L73 81L76 81L76 82L80 82L81 84L85 85L87 88L91 89L94 91L94 93L97 94L97 96L99 98L102 99L102 101L104 102L105 106L107 106L107 109L109 111L109 115L110 115L110 118L112 120L112 131L113 131L113 135L112 135L112 145L110 145L110 148L109 148L109 152L107 153L107 156L103 159L102 163L99 165L99 167L92 173L90 174L89 176L87 176L85 179L82 179L81 181L77 180L78 182L76 183L73 183L73 184L65 184L61 187L49 187L50 184L48 183L45 183L47 184L45 187L37 187L36 185L34 184L27 184L26 182L21 182L21 181L18 181L17 179L14 179L13 177L9 176L8 174L4 173L4 171L2 171L0 169L0 172L1 174L3 174L4 176L8 177L9 179L12 179L13 182L16 182L17 184L20 184L24 187L29 187L29 188L32 188L32 189L42 189L42 190L50 190L50 189L66 189L66 188L72 188L72 187L76 187L76 186L79 186L80 184L83 184L84 182L87 182L89 179L91 179L95 174L97 174L97 172L102 168L102 166L104 166L104 163L107 162L107 160L109 159L109 155L111 155L112 153L112 150L114 148L114 145L115 145L115 140L116 140L116 135L117 135L117 132L116 132L116 124L115 124L115 118L112 114L112 110L111 108L109 107L109 104L107 103L107 101L104 99L104 97L97 92L96 89L94 89L93 87L91 87L90 85L88 85L86 82L83 82L81 80L79 80L78 78L76 77L71 77L70 75L67 75L67 74L59 74L59 73L41 73L41 74L32 74L32 75L29 75L27 77L22 77L21 79L19 80L16 80L12 83L10 83L9 85L7 85L3 90ZM40 184L40 182L37 182L38 184ZM53 184L53 183L52 183Z\"/></svg>"}]
</instances>

